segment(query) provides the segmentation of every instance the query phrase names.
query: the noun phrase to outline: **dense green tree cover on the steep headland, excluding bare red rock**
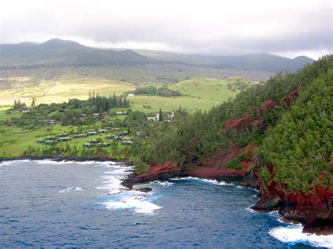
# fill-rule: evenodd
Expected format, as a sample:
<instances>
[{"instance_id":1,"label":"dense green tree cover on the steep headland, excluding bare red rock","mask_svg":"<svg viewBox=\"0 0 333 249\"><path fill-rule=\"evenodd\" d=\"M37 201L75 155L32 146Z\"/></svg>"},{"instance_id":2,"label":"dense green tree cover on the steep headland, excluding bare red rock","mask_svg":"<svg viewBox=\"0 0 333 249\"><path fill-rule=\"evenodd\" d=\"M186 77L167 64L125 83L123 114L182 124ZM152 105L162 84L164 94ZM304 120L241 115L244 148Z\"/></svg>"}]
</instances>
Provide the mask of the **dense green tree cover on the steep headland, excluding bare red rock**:
<instances>
[{"instance_id":1,"label":"dense green tree cover on the steep headland, excluding bare red rock","mask_svg":"<svg viewBox=\"0 0 333 249\"><path fill-rule=\"evenodd\" d=\"M259 178L264 184L274 178L293 190L308 191L318 184L332 189L332 85L333 55L327 55L296 73L278 73L266 83L242 90L209 112L188 114L180 108L170 122L154 123L145 140L135 140L131 154L136 173L146 172L152 162L186 166L188 150L207 159L235 144L254 144L252 156L260 161ZM292 93L298 98L288 98ZM269 112L263 109L265 102L273 103ZM240 117L268 128L226 128ZM237 168L237 160L229 166ZM272 164L274 175L269 170Z\"/></svg>"}]
</instances>

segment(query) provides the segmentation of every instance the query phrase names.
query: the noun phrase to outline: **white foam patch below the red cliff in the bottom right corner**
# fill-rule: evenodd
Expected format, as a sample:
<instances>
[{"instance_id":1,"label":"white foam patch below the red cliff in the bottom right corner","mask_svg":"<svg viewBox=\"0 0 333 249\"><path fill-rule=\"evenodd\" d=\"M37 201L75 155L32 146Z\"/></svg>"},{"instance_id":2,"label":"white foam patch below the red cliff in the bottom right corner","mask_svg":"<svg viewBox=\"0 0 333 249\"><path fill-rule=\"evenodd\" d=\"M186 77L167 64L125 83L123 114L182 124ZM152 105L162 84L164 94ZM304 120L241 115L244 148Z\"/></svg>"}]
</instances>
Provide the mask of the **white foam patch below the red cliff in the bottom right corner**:
<instances>
[{"instance_id":1,"label":"white foam patch below the red cliff in the bottom right corner","mask_svg":"<svg viewBox=\"0 0 333 249\"><path fill-rule=\"evenodd\" d=\"M303 227L295 224L288 227L276 227L268 234L284 243L307 243L316 247L333 248L333 235L316 235L302 232Z\"/></svg>"}]
</instances>

